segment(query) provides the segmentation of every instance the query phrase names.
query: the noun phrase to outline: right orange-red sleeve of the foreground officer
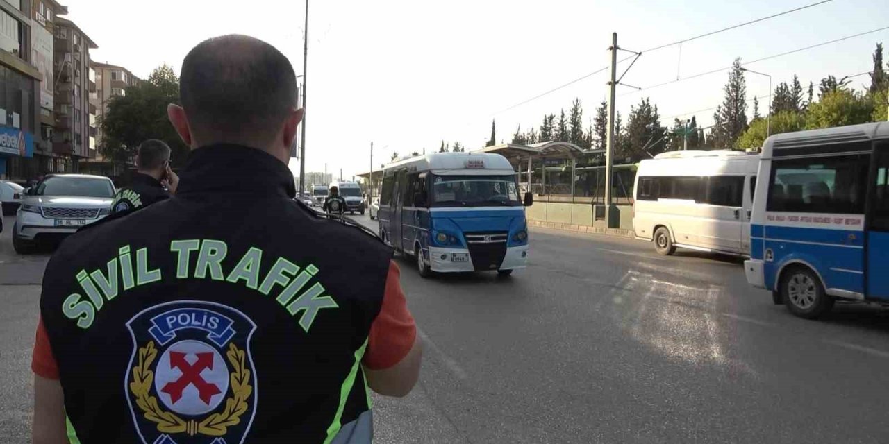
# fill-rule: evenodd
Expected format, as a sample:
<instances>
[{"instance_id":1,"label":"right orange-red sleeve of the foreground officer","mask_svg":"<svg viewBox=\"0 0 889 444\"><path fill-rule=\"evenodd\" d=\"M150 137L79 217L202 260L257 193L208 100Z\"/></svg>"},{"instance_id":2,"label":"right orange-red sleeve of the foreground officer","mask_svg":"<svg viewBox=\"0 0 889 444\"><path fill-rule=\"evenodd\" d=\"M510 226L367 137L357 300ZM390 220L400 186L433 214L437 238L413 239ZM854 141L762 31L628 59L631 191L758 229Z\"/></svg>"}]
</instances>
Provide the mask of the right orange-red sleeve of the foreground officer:
<instances>
[{"instance_id":1,"label":"right orange-red sleeve of the foreground officer","mask_svg":"<svg viewBox=\"0 0 889 444\"><path fill-rule=\"evenodd\" d=\"M388 369L407 355L417 336L417 326L401 289L401 272L395 262L389 262L386 292L380 314L371 324L364 353L364 366L372 370Z\"/></svg>"}]
</instances>

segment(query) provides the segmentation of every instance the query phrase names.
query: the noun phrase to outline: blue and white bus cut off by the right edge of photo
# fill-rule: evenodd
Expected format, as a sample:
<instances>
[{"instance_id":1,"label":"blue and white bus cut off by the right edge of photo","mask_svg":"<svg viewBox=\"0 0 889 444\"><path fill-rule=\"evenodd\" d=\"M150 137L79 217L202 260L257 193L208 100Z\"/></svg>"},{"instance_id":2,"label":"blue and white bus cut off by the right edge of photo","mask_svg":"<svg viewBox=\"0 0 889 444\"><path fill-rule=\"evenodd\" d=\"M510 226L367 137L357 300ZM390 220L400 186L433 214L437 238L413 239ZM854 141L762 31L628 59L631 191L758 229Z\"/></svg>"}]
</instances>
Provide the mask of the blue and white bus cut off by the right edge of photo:
<instances>
[{"instance_id":1,"label":"blue and white bus cut off by the right edge of photo","mask_svg":"<svg viewBox=\"0 0 889 444\"><path fill-rule=\"evenodd\" d=\"M889 305L889 123L772 136L757 176L750 284L805 318Z\"/></svg>"}]
</instances>

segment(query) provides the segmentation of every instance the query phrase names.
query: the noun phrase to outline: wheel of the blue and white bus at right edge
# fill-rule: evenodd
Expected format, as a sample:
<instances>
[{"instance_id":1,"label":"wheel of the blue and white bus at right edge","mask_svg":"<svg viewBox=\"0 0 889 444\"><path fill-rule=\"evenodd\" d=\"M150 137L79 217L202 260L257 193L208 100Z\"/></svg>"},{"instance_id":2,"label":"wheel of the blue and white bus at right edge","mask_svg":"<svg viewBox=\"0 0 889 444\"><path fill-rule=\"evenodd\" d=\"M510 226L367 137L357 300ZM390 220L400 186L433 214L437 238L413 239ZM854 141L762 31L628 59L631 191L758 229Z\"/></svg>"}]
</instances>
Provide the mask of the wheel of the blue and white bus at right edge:
<instances>
[{"instance_id":1,"label":"wheel of the blue and white bus at right edge","mask_svg":"<svg viewBox=\"0 0 889 444\"><path fill-rule=\"evenodd\" d=\"M781 299L790 313L805 319L815 319L834 305L818 275L805 266L795 266L781 276Z\"/></svg>"}]
</instances>

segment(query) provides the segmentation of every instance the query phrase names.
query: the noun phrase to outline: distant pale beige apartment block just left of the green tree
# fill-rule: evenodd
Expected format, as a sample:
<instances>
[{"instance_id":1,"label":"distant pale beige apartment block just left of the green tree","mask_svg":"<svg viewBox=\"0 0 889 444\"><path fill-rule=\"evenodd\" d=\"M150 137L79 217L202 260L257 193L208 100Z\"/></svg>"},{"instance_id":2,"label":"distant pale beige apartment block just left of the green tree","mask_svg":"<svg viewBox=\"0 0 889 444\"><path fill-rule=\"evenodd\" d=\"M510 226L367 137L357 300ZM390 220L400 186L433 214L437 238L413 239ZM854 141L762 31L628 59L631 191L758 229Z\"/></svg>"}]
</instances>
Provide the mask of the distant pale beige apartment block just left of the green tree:
<instances>
[{"instance_id":1,"label":"distant pale beige apartment block just left of the green tree","mask_svg":"<svg viewBox=\"0 0 889 444\"><path fill-rule=\"evenodd\" d=\"M133 75L129 69L117 65L93 61L90 67L95 73L96 83L96 90L90 92L90 104L96 110L96 119L101 121L102 116L108 112L110 99L115 96L126 96L126 89L138 85L141 79ZM101 127L98 127L96 128L96 146L101 147L101 144L102 131ZM124 174L124 169L124 165L110 162L101 153L88 163L81 165L81 170L112 178Z\"/></svg>"}]
</instances>

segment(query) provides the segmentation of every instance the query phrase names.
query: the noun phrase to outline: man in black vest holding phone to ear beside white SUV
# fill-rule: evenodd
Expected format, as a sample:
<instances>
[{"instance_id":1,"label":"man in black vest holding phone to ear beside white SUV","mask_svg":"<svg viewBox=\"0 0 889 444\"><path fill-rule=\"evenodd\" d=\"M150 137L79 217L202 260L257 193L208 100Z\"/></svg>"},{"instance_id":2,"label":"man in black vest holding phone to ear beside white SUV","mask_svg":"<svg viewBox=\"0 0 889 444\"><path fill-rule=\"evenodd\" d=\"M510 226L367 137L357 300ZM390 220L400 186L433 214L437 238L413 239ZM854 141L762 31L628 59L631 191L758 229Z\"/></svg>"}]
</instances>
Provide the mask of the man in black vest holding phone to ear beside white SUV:
<instances>
[{"instance_id":1,"label":"man in black vest holding phone to ear beside white SUV","mask_svg":"<svg viewBox=\"0 0 889 444\"><path fill-rule=\"evenodd\" d=\"M179 176L170 168L170 147L163 141L148 139L136 152L136 172L130 186L117 190L111 214L138 210L176 194Z\"/></svg>"}]
</instances>

